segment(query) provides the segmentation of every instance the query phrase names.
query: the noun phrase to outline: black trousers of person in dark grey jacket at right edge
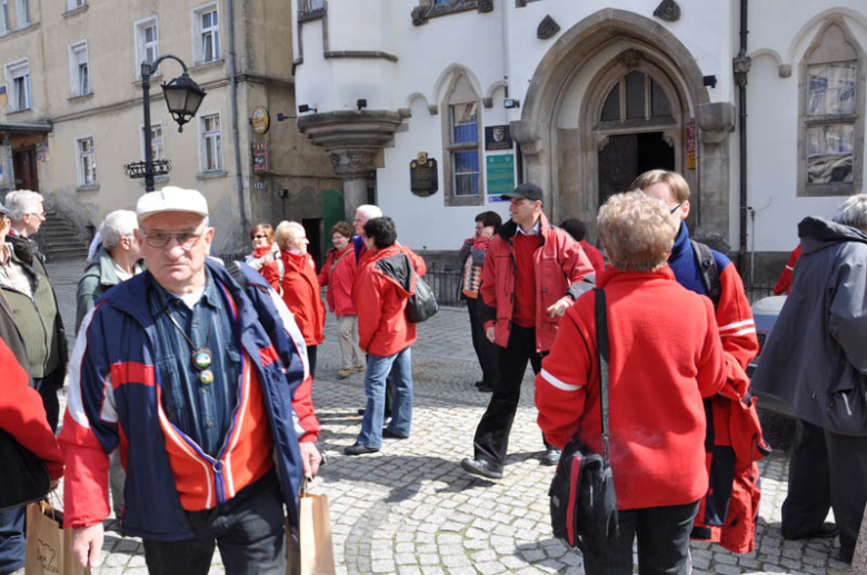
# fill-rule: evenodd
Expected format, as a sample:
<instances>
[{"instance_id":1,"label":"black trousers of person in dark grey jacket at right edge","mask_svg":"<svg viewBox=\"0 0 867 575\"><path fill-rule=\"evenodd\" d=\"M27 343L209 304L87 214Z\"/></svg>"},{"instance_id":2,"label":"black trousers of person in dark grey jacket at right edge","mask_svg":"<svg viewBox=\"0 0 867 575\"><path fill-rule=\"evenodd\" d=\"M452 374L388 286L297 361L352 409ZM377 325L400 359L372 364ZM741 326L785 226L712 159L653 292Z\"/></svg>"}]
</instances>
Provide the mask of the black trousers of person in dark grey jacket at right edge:
<instances>
[{"instance_id":1,"label":"black trousers of person in dark grey jacket at right edge","mask_svg":"<svg viewBox=\"0 0 867 575\"><path fill-rule=\"evenodd\" d=\"M783 536L815 533L828 509L840 531L840 551L855 551L867 503L867 437L839 435L798 419L789 454L789 493L783 502Z\"/></svg>"}]
</instances>

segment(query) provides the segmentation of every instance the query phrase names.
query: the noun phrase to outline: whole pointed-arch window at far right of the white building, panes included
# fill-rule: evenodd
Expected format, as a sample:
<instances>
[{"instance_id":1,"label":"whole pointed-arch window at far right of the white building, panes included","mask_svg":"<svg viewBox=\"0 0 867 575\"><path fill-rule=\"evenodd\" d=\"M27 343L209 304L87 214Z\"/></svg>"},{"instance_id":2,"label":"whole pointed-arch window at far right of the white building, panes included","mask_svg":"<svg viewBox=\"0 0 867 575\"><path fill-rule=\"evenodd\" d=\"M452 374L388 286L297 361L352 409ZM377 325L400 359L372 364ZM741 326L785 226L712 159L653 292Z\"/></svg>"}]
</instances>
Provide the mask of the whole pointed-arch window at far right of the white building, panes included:
<instances>
[{"instance_id":1,"label":"whole pointed-arch window at far right of the white building, panes included","mask_svg":"<svg viewBox=\"0 0 867 575\"><path fill-rule=\"evenodd\" d=\"M864 52L830 17L801 61L798 194L848 196L864 177Z\"/></svg>"}]
</instances>

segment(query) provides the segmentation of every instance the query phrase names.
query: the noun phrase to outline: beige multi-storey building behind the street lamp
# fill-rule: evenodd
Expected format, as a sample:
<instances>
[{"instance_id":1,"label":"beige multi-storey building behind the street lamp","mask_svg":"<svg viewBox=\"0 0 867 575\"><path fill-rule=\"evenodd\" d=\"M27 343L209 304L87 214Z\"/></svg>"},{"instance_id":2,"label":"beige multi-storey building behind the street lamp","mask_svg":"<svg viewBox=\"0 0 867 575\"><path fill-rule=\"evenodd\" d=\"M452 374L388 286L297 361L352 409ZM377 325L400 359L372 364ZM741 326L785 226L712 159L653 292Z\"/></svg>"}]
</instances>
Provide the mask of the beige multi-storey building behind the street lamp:
<instances>
[{"instance_id":1,"label":"beige multi-storey building behind the street lamp","mask_svg":"<svg viewBox=\"0 0 867 575\"><path fill-rule=\"evenodd\" d=\"M289 10L281 0L0 0L0 195L39 190L82 236L134 206L143 179L124 165L144 157L140 62L171 53L207 96L179 132L160 83L180 65L165 60L151 78L153 156L172 167L157 189L208 197L218 254L247 251L251 225L281 219L302 221L321 249L342 219L323 200L341 206L342 186L298 132ZM269 112L263 133L258 108Z\"/></svg>"}]
</instances>

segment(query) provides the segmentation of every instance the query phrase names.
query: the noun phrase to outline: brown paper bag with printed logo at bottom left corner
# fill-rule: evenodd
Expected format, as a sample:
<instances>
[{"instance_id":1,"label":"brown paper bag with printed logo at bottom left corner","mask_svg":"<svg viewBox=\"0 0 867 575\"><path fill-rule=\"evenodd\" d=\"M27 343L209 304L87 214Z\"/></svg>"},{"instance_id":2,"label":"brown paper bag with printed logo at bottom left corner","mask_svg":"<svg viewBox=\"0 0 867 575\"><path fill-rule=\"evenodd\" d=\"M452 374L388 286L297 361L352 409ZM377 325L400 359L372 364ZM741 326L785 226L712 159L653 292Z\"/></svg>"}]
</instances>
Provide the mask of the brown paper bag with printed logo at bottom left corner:
<instances>
[{"instance_id":1,"label":"brown paper bag with printed logo at bottom left corner","mask_svg":"<svg viewBox=\"0 0 867 575\"><path fill-rule=\"evenodd\" d=\"M79 566L69 544L72 529L64 529L63 515L46 502L27 506L26 575L82 575L90 569Z\"/></svg>"}]
</instances>

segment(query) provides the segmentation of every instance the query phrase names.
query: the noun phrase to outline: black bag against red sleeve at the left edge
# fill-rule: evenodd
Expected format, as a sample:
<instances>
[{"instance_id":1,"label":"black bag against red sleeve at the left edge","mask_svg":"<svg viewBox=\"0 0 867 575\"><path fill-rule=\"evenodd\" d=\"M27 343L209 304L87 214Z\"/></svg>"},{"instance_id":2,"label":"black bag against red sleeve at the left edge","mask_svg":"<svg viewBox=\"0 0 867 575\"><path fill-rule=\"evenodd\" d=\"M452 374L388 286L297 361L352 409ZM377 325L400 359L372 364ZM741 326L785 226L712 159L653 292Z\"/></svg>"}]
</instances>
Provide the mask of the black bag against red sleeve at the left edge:
<instances>
[{"instance_id":1,"label":"black bag against red sleeve at the left edge","mask_svg":"<svg viewBox=\"0 0 867 575\"><path fill-rule=\"evenodd\" d=\"M0 429L0 510L20 507L48 495L51 477L44 464L10 434Z\"/></svg>"}]
</instances>

